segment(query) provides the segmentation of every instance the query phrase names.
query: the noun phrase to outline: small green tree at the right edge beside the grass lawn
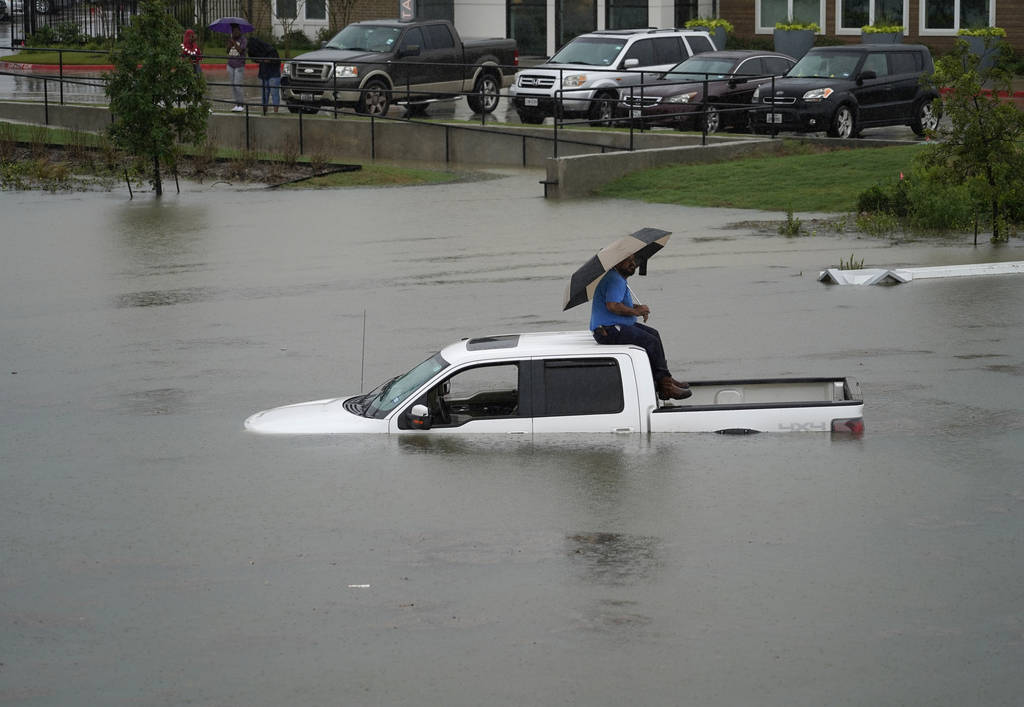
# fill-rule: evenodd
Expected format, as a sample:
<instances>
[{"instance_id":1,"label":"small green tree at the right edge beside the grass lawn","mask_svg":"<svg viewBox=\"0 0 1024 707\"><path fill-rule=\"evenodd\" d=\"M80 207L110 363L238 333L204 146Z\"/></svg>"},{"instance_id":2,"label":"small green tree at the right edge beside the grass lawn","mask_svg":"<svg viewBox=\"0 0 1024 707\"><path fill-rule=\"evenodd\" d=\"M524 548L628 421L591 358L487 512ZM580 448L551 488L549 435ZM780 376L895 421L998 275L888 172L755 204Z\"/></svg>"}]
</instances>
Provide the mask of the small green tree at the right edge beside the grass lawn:
<instances>
[{"instance_id":1,"label":"small green tree at the right edge beside the grass lawn","mask_svg":"<svg viewBox=\"0 0 1024 707\"><path fill-rule=\"evenodd\" d=\"M932 81L944 91L949 121L921 156L933 178L969 186L976 214L990 211L992 241L1006 240L1005 209L1024 188L1024 113L998 96L1011 90L1013 52L1006 45L996 51L992 66L979 69L979 57L956 40L936 63Z\"/></svg>"}]
</instances>

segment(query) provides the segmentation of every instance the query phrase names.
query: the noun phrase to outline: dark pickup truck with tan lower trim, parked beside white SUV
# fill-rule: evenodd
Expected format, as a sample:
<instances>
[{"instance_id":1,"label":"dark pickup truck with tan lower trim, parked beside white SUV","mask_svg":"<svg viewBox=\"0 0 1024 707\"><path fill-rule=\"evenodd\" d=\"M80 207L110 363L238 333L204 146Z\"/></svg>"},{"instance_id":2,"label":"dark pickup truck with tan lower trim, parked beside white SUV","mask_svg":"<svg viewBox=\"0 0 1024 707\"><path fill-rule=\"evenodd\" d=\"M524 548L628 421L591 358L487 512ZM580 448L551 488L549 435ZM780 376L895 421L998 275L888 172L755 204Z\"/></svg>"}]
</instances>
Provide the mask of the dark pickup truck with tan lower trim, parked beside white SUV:
<instances>
[{"instance_id":1,"label":"dark pickup truck with tan lower trim, parked beside white SUV","mask_svg":"<svg viewBox=\"0 0 1024 707\"><path fill-rule=\"evenodd\" d=\"M464 41L442 19L374 19L285 61L281 85L292 113L337 106L383 116L392 102L415 111L460 94L474 112L490 113L518 63L513 39Z\"/></svg>"}]
</instances>

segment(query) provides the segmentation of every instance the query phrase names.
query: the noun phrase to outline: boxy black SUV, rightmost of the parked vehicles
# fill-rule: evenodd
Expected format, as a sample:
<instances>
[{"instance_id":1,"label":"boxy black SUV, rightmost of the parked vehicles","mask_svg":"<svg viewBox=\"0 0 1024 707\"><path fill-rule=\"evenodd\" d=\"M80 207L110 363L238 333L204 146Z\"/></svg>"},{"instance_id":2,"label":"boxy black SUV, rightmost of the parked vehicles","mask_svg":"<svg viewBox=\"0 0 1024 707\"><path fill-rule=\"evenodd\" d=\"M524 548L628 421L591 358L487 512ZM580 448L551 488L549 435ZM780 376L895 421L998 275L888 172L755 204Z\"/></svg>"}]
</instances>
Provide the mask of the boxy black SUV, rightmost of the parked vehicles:
<instances>
[{"instance_id":1,"label":"boxy black SUV, rightmost of the parked vehicles","mask_svg":"<svg viewBox=\"0 0 1024 707\"><path fill-rule=\"evenodd\" d=\"M923 135L939 121L939 95L921 82L934 69L920 44L814 47L754 92L751 128L855 137L863 128L909 125Z\"/></svg>"}]
</instances>

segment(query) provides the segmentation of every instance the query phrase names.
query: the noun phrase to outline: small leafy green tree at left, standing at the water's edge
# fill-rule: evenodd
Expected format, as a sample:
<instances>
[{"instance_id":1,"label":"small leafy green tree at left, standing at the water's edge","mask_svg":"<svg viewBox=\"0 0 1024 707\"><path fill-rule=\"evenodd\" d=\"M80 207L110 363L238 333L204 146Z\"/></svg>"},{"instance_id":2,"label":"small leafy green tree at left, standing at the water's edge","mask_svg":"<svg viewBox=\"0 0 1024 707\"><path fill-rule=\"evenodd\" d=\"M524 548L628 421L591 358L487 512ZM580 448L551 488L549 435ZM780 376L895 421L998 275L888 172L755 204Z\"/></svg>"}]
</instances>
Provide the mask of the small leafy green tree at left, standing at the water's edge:
<instances>
[{"instance_id":1,"label":"small leafy green tree at left, standing at the water's edge","mask_svg":"<svg viewBox=\"0 0 1024 707\"><path fill-rule=\"evenodd\" d=\"M210 113L206 81L181 57L181 34L162 0L142 0L111 52L114 71L106 77L111 138L152 163L158 196L163 194L161 161L174 163L178 142L202 144Z\"/></svg>"}]
</instances>

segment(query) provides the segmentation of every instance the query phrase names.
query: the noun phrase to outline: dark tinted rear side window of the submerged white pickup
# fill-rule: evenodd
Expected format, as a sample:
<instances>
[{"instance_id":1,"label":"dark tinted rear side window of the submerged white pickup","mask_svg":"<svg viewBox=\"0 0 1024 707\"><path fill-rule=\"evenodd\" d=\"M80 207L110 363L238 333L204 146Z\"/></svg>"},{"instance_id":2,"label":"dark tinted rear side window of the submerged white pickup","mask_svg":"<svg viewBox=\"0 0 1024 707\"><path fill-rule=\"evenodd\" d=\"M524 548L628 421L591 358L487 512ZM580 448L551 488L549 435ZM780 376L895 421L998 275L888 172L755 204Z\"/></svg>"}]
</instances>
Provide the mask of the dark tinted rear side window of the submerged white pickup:
<instances>
[{"instance_id":1,"label":"dark tinted rear side window of the submerged white pickup","mask_svg":"<svg viewBox=\"0 0 1024 707\"><path fill-rule=\"evenodd\" d=\"M614 359L544 362L543 415L601 415L622 412L623 379Z\"/></svg>"}]
</instances>

